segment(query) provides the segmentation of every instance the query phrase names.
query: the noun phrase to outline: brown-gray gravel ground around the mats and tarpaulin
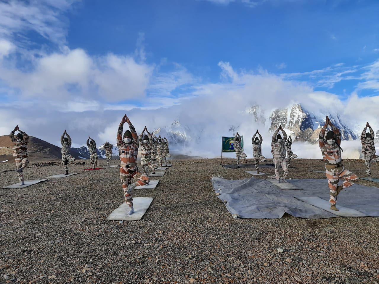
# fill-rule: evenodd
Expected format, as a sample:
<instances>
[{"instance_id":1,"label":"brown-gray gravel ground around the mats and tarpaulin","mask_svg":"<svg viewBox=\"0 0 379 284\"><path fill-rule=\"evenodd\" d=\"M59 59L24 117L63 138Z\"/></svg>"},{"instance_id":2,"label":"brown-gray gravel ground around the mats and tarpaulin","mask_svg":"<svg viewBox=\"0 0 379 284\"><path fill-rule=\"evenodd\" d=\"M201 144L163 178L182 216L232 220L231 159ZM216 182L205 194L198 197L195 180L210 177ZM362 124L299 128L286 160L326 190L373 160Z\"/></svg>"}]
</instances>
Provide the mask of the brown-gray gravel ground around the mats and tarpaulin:
<instances>
[{"instance_id":1,"label":"brown-gray gravel ground around the mats and tarpaulin","mask_svg":"<svg viewBox=\"0 0 379 284\"><path fill-rule=\"evenodd\" d=\"M166 175L153 178L161 181L156 189L133 192L155 198L143 219L134 222L105 220L124 200L118 168L83 172L86 161L87 166L69 167L79 175L1 189L0 283L379 281L378 218L235 220L215 196L211 177L251 175L219 162L173 160ZM363 161L344 163L365 177ZM373 165L373 176L379 176L378 168ZM14 169L0 164L0 187L17 182ZM325 178L311 169L323 170L323 161L294 159L289 177ZM29 167L24 173L41 179L63 168Z\"/></svg>"}]
</instances>

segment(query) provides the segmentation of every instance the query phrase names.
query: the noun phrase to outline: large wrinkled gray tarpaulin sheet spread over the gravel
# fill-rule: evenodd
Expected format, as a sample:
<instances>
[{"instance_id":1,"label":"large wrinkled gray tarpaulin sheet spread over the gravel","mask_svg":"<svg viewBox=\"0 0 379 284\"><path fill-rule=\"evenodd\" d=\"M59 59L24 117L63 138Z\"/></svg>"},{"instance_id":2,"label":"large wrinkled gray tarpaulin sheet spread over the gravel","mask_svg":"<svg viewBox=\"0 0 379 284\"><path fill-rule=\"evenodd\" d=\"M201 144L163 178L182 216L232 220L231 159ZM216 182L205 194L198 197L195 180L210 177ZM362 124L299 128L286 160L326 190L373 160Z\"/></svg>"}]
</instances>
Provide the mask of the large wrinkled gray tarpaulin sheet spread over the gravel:
<instances>
[{"instance_id":1,"label":"large wrinkled gray tarpaulin sheet spread over the gravel","mask_svg":"<svg viewBox=\"0 0 379 284\"><path fill-rule=\"evenodd\" d=\"M330 208L329 202L314 203L310 201L312 198L307 198L317 197L329 201L327 179L291 179L290 182L303 190L281 190L265 179L254 177L238 180L212 178L216 195L219 193L217 197L236 218L280 218L284 213L308 219L339 217L320 208L325 204ZM307 203L307 200L320 204L320 207ZM346 217L356 217L357 211L362 216L379 217L378 201L378 188L354 184L338 195L337 208L343 207Z\"/></svg>"}]
</instances>

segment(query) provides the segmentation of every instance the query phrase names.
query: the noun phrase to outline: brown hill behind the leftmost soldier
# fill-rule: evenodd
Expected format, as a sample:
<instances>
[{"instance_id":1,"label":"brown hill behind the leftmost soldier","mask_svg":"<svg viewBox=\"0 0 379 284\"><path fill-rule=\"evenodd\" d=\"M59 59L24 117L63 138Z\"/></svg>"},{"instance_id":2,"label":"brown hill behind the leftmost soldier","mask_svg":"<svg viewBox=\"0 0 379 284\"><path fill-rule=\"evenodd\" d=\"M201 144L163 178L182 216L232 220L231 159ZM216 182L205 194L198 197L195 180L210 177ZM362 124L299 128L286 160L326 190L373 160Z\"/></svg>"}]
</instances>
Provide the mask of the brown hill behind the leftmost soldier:
<instances>
[{"instance_id":1,"label":"brown hill behind the leftmost soldier","mask_svg":"<svg viewBox=\"0 0 379 284\"><path fill-rule=\"evenodd\" d=\"M8 135L0 136L0 162L8 160L14 162L13 142ZM61 148L49 142L30 136L28 145L29 161L61 159Z\"/></svg>"}]
</instances>

